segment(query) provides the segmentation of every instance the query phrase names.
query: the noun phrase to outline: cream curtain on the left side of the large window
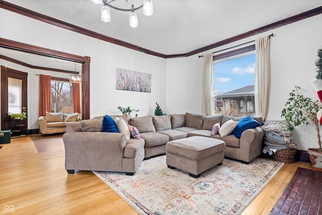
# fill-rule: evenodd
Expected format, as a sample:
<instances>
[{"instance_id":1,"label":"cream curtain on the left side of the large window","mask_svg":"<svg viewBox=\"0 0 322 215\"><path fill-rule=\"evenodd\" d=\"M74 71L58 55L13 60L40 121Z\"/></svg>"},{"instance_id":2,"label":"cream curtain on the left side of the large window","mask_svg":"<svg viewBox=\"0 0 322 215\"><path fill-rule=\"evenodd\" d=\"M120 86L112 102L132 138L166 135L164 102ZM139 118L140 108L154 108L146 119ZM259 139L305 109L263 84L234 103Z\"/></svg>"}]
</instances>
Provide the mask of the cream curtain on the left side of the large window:
<instances>
[{"instance_id":1,"label":"cream curtain on the left side of the large window","mask_svg":"<svg viewBox=\"0 0 322 215\"><path fill-rule=\"evenodd\" d=\"M212 53L203 55L202 104L201 113L205 116L215 114L214 80Z\"/></svg>"}]
</instances>

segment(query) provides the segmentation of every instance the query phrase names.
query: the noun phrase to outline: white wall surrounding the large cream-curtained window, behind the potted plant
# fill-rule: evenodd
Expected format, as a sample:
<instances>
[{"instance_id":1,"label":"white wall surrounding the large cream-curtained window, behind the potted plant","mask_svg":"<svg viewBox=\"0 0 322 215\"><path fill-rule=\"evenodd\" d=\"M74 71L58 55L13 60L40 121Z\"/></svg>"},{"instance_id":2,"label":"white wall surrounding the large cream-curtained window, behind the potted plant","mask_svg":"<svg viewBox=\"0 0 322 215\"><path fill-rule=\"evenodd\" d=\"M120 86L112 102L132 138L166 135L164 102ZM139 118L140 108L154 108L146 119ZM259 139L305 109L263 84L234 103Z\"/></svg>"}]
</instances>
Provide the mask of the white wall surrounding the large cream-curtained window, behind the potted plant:
<instances>
[{"instance_id":1,"label":"white wall surrounding the large cream-curtained window, behind the potted plant","mask_svg":"<svg viewBox=\"0 0 322 215\"><path fill-rule=\"evenodd\" d=\"M318 100L309 81L315 78L314 61L317 58L317 49L322 47L322 28L317 27L321 23L322 15L317 15L205 53L243 44L274 33L274 37L271 38L271 89L266 120L281 120L281 111L294 85L300 86L305 96L311 97L314 101ZM198 55L202 54L204 53ZM198 55L182 59L167 59L168 112L201 113L203 58L198 58ZM178 77L181 77L182 83L178 81L180 80ZM318 146L313 125L296 127L293 139L299 150Z\"/></svg>"}]
</instances>

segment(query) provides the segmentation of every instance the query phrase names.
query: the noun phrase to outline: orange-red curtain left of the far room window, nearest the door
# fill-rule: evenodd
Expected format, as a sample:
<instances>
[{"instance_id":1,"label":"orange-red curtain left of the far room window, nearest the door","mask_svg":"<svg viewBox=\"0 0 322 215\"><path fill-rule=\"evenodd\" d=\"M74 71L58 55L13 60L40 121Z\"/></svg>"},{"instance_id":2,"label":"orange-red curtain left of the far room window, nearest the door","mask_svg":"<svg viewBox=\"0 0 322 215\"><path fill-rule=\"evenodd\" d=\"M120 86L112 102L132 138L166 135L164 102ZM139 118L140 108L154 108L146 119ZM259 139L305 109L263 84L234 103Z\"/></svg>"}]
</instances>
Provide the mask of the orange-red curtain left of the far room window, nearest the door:
<instances>
[{"instance_id":1,"label":"orange-red curtain left of the far room window, nearest the door","mask_svg":"<svg viewBox=\"0 0 322 215\"><path fill-rule=\"evenodd\" d=\"M39 116L50 112L50 82L51 76L39 75Z\"/></svg>"}]
</instances>

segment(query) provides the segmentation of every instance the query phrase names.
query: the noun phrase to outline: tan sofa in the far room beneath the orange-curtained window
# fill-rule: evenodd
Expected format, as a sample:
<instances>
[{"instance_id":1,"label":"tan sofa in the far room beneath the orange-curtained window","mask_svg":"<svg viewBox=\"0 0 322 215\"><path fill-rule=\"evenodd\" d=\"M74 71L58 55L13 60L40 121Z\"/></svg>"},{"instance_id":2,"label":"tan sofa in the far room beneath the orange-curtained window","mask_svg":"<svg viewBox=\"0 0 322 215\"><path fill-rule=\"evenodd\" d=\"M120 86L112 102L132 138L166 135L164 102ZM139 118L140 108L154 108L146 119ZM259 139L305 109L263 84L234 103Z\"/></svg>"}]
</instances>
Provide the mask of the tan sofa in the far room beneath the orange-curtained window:
<instances>
[{"instance_id":1,"label":"tan sofa in the far room beneath the orange-curtained window","mask_svg":"<svg viewBox=\"0 0 322 215\"><path fill-rule=\"evenodd\" d=\"M66 124L77 121L80 114L73 113L49 113L39 116L39 132L42 134L53 134L66 132Z\"/></svg>"}]
</instances>

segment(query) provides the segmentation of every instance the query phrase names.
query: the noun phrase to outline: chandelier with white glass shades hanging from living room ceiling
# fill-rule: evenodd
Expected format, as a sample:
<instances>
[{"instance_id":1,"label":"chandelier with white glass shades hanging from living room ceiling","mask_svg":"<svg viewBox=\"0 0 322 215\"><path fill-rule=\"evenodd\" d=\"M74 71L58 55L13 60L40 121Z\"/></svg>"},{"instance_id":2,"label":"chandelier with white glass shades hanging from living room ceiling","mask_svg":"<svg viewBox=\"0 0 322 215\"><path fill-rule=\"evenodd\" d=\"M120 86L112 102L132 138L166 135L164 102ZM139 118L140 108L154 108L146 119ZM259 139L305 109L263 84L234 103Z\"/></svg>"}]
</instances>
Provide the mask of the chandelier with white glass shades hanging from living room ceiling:
<instances>
[{"instance_id":1,"label":"chandelier with white glass shades hanging from living room ceiling","mask_svg":"<svg viewBox=\"0 0 322 215\"><path fill-rule=\"evenodd\" d=\"M127 0L127 4L129 5L130 9L122 9L122 8L117 8L115 6L110 5L110 3L115 2L116 0L91 0L92 2L96 4L104 4L102 9L101 9L101 20L103 22L111 22L111 12L110 8L113 8L118 11L125 11L125 12L131 12L130 13L130 27L136 28L139 26L137 16L135 14L136 10L139 10L143 7L143 14L145 16L151 16L153 14L153 5L152 5L152 0L143 0L143 5L140 7L135 8L134 5L130 5Z\"/></svg>"}]
</instances>

